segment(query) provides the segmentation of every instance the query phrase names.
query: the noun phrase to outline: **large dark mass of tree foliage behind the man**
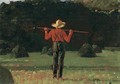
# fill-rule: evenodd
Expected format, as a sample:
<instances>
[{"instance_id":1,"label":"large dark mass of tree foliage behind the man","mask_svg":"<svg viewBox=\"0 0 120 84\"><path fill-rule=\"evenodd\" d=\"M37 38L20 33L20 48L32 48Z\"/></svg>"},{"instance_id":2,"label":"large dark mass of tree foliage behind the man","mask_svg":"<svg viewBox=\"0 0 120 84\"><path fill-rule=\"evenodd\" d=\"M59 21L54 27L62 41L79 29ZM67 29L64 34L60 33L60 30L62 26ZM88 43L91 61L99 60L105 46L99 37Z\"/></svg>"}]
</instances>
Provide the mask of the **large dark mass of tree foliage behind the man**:
<instances>
[{"instance_id":1,"label":"large dark mass of tree foliage behind the man","mask_svg":"<svg viewBox=\"0 0 120 84\"><path fill-rule=\"evenodd\" d=\"M42 47L48 46L50 42L44 40L43 31L33 30L33 27L51 27L51 23L57 19L66 22L66 29L90 32L90 34L74 34L67 50L77 50L86 41L91 45L95 42L100 47L120 46L120 40L116 37L120 31L118 10L106 12L88 9L80 3L59 0L57 2L36 0L2 3L0 5L0 38L7 41L9 45L14 42L22 44L28 51L41 51ZM99 39L101 37L102 39Z\"/></svg>"}]
</instances>

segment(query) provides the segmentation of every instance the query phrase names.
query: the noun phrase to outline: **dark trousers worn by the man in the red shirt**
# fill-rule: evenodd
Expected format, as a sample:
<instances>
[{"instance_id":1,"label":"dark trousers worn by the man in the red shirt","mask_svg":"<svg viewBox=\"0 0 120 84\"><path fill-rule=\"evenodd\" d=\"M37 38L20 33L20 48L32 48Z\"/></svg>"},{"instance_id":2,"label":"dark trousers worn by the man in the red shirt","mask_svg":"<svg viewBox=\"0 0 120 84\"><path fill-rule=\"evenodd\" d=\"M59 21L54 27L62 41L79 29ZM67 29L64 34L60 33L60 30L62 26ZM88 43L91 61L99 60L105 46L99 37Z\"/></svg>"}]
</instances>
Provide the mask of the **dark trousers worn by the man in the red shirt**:
<instances>
[{"instance_id":1,"label":"dark trousers worn by the man in the red shirt","mask_svg":"<svg viewBox=\"0 0 120 84\"><path fill-rule=\"evenodd\" d=\"M62 77L65 47L63 42L53 42L53 77Z\"/></svg>"}]
</instances>

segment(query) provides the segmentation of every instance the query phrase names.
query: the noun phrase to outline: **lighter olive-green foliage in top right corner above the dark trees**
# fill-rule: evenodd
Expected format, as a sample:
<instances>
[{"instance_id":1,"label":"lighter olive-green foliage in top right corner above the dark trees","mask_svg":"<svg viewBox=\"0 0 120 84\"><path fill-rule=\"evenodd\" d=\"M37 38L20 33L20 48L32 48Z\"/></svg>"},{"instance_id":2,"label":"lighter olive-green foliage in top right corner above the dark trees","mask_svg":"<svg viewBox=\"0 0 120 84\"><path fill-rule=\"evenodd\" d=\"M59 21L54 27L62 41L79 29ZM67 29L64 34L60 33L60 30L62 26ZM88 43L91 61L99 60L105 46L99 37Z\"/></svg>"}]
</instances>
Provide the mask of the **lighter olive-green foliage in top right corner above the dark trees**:
<instances>
[{"instance_id":1,"label":"lighter olive-green foliage in top right corner above the dark trees","mask_svg":"<svg viewBox=\"0 0 120 84\"><path fill-rule=\"evenodd\" d=\"M83 3L89 8L99 8L109 10L119 8L119 0L72 0L73 2Z\"/></svg>"}]
</instances>

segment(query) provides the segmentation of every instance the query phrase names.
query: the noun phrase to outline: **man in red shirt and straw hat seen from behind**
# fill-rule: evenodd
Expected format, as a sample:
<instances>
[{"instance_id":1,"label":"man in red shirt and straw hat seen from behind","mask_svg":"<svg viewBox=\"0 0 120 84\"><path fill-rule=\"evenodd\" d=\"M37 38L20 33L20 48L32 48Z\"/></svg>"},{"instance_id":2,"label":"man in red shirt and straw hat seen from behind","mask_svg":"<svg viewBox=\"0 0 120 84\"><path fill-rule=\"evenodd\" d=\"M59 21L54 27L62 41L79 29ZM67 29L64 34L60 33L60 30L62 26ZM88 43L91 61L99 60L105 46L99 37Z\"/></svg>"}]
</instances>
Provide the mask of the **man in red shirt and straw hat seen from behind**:
<instances>
[{"instance_id":1,"label":"man in red shirt and straw hat seen from behind","mask_svg":"<svg viewBox=\"0 0 120 84\"><path fill-rule=\"evenodd\" d=\"M55 29L52 29L48 33L48 28L45 27L45 40L52 39L53 46L53 78L62 79L63 65L64 65L64 56L65 56L65 46L64 41L67 43L70 42L71 36L73 35L73 30L69 30L69 34L61 29L65 26L65 22L57 20L56 23L52 24ZM58 74L57 74L58 71Z\"/></svg>"}]
</instances>

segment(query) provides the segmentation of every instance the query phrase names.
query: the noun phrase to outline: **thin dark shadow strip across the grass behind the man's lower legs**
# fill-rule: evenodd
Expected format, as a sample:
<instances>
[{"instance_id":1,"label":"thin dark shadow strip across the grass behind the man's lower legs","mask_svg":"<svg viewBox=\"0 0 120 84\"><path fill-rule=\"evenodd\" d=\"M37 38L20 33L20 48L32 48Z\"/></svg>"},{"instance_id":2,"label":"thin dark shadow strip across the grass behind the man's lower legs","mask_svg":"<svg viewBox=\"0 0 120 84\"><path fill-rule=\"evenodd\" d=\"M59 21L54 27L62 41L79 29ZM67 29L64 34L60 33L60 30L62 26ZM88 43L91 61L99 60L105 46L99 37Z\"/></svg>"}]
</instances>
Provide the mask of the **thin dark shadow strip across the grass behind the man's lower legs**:
<instances>
[{"instance_id":1,"label":"thin dark shadow strip across the grass behind the man's lower legs","mask_svg":"<svg viewBox=\"0 0 120 84\"><path fill-rule=\"evenodd\" d=\"M11 70L52 70L52 66L6 66ZM64 66L66 70L120 71L120 66Z\"/></svg>"}]
</instances>

